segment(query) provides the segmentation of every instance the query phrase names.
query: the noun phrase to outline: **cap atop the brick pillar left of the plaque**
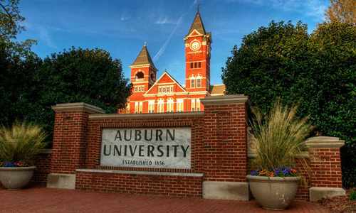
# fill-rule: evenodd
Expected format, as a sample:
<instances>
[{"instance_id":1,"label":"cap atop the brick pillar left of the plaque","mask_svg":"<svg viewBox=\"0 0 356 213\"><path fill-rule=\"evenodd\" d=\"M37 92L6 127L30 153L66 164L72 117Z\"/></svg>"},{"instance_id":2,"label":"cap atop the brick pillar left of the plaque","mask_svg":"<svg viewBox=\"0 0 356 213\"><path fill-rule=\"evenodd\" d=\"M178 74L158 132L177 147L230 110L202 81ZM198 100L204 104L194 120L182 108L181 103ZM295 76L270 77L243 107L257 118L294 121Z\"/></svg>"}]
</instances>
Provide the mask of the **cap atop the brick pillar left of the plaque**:
<instances>
[{"instance_id":1,"label":"cap atop the brick pillar left of the plaque","mask_svg":"<svg viewBox=\"0 0 356 213\"><path fill-rule=\"evenodd\" d=\"M105 114L105 111L100 107L95 107L90 104L81 103L69 103L69 104L56 104L51 107L54 111L88 111L93 114Z\"/></svg>"}]
</instances>

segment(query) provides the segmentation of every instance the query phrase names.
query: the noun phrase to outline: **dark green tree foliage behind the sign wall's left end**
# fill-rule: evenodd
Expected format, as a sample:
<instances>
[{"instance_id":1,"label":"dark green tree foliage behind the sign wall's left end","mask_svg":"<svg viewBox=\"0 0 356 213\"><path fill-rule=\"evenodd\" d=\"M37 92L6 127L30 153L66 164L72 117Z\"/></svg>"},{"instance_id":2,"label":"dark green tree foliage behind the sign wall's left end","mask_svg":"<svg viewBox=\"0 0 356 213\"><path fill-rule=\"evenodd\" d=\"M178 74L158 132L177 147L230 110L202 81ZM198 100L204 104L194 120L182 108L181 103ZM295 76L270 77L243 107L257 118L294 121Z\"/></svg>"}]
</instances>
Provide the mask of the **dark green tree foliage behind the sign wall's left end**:
<instances>
[{"instance_id":1,"label":"dark green tree foliage behind the sign wall's left end","mask_svg":"<svg viewBox=\"0 0 356 213\"><path fill-rule=\"evenodd\" d=\"M7 58L0 52L0 122L35 121L52 136L54 111L60 103L85 102L106 113L124 108L131 84L124 78L120 60L105 50L81 48L52 54L44 60L29 55L26 60ZM15 60L16 59L16 60Z\"/></svg>"}]
</instances>

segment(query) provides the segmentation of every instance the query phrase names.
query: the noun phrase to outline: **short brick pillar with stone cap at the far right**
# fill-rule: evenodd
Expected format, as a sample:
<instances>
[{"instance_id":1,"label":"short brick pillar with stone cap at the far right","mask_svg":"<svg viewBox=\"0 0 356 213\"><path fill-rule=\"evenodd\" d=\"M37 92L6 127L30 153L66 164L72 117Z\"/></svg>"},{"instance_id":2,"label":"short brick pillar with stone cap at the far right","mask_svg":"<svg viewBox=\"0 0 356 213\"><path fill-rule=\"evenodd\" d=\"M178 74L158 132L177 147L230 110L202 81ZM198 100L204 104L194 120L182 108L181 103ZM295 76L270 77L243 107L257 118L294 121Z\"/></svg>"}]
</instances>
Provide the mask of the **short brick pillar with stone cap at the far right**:
<instances>
[{"instance_id":1,"label":"short brick pillar with stone cap at the far right","mask_svg":"<svg viewBox=\"0 0 356 213\"><path fill-rule=\"evenodd\" d=\"M342 189L340 147L345 141L335 137L313 137L305 141L310 148L310 201L345 195Z\"/></svg>"}]
</instances>

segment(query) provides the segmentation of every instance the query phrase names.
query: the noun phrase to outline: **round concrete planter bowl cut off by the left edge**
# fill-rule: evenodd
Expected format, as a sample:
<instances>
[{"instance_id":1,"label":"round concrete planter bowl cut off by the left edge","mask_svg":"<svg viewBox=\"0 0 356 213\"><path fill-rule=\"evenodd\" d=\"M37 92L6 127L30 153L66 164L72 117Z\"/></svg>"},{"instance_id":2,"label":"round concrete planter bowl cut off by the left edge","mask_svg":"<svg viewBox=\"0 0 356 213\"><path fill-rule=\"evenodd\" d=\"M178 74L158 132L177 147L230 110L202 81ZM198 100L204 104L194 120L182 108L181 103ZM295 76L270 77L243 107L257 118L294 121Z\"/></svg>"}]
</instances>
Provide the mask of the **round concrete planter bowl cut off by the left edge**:
<instances>
[{"instance_id":1,"label":"round concrete planter bowl cut off by the left edge","mask_svg":"<svg viewBox=\"0 0 356 213\"><path fill-rule=\"evenodd\" d=\"M1 184L8 190L20 190L31 181L36 166L0 167Z\"/></svg>"}]
</instances>

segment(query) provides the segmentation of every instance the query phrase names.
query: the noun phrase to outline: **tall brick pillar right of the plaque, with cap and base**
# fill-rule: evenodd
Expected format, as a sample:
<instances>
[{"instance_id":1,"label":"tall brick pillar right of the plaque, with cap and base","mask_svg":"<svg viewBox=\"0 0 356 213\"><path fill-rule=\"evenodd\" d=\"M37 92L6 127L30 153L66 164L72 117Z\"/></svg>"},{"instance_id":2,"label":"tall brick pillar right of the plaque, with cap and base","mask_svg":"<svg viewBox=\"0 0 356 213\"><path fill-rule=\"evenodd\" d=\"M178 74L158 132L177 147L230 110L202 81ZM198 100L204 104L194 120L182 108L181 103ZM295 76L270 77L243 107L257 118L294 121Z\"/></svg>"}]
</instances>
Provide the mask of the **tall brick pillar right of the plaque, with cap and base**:
<instances>
[{"instance_id":1,"label":"tall brick pillar right of the plaque, with cap and base","mask_svg":"<svg viewBox=\"0 0 356 213\"><path fill-rule=\"evenodd\" d=\"M248 200L244 94L204 97L203 197Z\"/></svg>"}]
</instances>

